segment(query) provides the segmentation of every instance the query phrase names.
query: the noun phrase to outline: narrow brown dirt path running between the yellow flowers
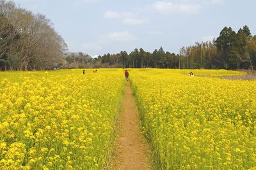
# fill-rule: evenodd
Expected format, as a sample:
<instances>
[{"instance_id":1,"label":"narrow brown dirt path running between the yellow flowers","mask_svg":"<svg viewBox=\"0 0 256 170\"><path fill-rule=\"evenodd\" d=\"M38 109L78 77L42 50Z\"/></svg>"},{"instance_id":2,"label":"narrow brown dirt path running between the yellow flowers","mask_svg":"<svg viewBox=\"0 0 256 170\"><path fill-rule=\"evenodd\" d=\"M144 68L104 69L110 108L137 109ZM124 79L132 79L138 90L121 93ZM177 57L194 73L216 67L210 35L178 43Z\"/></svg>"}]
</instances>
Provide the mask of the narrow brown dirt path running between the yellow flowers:
<instances>
[{"instance_id":1,"label":"narrow brown dirt path running between the yellow flowers","mask_svg":"<svg viewBox=\"0 0 256 170\"><path fill-rule=\"evenodd\" d=\"M127 82L123 110L118 120L118 138L115 141L111 169L151 169L148 165L149 146L140 133L138 108Z\"/></svg>"}]
</instances>

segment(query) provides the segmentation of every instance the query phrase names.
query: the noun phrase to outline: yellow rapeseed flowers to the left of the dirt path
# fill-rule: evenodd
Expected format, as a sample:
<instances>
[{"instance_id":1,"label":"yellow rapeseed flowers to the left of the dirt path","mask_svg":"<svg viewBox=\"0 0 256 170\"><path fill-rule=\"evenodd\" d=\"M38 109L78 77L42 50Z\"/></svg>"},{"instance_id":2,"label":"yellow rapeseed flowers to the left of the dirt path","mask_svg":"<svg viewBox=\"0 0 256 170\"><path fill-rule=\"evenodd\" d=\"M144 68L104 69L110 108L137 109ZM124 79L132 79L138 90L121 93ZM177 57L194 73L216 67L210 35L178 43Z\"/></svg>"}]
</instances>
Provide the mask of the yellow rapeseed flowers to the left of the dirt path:
<instances>
[{"instance_id":1,"label":"yellow rapeseed flowers to the left of the dirt path","mask_svg":"<svg viewBox=\"0 0 256 170\"><path fill-rule=\"evenodd\" d=\"M0 73L0 169L102 169L124 75L99 69Z\"/></svg>"}]
</instances>

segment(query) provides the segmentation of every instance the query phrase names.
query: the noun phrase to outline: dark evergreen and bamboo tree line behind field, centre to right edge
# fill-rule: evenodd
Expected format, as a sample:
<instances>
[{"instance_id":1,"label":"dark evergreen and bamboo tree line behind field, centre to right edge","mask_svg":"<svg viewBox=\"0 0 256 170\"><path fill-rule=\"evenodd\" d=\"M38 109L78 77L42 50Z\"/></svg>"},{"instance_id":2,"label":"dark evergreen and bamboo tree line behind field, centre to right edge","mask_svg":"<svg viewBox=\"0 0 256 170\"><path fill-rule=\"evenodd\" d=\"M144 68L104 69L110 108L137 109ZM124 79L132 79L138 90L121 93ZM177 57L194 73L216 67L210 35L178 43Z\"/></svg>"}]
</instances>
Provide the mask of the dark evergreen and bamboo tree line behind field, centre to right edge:
<instances>
[{"instance_id":1,"label":"dark evergreen and bamboo tree line behind field, centre to right edge","mask_svg":"<svg viewBox=\"0 0 256 170\"><path fill-rule=\"evenodd\" d=\"M173 68L173 69L255 69L256 36L248 26L235 32L224 27L218 38L180 48L179 54L164 52L163 48L145 52L135 48L104 54L94 59L95 67Z\"/></svg>"}]
</instances>

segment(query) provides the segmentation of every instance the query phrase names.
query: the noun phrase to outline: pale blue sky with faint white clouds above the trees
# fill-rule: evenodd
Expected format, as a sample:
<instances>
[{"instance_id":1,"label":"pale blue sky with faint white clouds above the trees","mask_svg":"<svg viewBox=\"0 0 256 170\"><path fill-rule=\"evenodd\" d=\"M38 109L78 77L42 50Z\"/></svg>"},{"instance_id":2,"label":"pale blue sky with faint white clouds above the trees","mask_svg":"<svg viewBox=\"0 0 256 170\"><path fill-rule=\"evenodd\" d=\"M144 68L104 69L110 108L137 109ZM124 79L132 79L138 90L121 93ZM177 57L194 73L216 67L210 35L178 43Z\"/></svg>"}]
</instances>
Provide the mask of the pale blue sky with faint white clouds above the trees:
<instances>
[{"instance_id":1,"label":"pale blue sky with faint white clouds above the trees","mask_svg":"<svg viewBox=\"0 0 256 170\"><path fill-rule=\"evenodd\" d=\"M179 53L230 26L256 34L255 0L15 0L54 24L70 52L103 55L134 48Z\"/></svg>"}]
</instances>

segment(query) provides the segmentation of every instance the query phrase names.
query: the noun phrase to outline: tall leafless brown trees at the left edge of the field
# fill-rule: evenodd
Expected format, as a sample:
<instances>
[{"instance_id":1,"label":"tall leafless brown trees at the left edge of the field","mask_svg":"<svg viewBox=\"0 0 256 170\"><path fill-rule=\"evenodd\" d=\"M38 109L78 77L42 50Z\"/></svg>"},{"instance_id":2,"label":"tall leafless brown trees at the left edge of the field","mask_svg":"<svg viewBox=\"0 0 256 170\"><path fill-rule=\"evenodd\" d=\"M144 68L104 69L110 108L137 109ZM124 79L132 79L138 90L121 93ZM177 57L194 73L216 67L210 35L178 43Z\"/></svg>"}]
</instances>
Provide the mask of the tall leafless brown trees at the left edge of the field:
<instances>
[{"instance_id":1,"label":"tall leafless brown trees at the left edge of the field","mask_svg":"<svg viewBox=\"0 0 256 170\"><path fill-rule=\"evenodd\" d=\"M51 20L0 0L0 69L52 69L63 64L67 45Z\"/></svg>"}]
</instances>

